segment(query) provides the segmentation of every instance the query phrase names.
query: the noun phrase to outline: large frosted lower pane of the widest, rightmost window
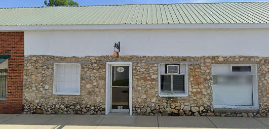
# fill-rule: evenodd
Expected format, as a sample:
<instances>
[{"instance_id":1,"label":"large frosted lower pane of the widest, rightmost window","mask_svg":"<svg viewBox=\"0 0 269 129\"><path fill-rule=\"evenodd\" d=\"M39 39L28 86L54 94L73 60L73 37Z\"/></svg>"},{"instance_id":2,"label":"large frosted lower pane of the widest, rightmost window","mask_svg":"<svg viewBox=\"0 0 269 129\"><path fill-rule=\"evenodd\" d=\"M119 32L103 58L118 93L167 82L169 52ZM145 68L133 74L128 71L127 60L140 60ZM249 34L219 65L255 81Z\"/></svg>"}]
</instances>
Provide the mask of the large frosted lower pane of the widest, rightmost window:
<instances>
[{"instance_id":1,"label":"large frosted lower pane of the widest, rightmost window","mask_svg":"<svg viewBox=\"0 0 269 129\"><path fill-rule=\"evenodd\" d=\"M213 105L253 105L252 75L213 75Z\"/></svg>"}]
</instances>

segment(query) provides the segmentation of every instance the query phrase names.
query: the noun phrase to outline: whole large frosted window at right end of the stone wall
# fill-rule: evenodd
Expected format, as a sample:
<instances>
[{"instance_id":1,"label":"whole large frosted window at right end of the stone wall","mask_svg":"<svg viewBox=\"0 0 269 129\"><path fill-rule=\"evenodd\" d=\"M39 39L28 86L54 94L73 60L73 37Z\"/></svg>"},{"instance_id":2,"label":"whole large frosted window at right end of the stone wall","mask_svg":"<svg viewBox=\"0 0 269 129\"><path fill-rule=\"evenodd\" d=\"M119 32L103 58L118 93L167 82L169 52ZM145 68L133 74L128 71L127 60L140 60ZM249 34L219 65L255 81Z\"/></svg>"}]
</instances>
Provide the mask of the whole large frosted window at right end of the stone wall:
<instances>
[{"instance_id":1,"label":"whole large frosted window at right end of the stone wall","mask_svg":"<svg viewBox=\"0 0 269 129\"><path fill-rule=\"evenodd\" d=\"M255 64L213 64L214 108L257 108Z\"/></svg>"}]
</instances>

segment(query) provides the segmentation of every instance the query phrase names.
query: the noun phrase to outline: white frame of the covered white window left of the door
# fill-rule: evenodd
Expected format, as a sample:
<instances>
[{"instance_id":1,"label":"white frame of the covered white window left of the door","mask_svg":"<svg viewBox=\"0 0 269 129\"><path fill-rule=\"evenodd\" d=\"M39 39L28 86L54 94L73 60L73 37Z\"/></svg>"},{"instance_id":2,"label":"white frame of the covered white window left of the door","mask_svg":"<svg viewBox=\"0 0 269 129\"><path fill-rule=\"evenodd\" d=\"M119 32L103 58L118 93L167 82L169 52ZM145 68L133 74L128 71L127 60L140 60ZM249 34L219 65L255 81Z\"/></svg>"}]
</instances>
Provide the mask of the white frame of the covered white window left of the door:
<instances>
[{"instance_id":1,"label":"white frame of the covered white window left of the door","mask_svg":"<svg viewBox=\"0 0 269 129\"><path fill-rule=\"evenodd\" d=\"M57 91L57 66L58 65L79 65L79 78L80 78L80 83L81 83L81 64L79 63L55 63L54 64L54 75L53 75L53 95L80 95L81 93L81 84L80 84L80 90L79 92L59 92Z\"/></svg>"}]
</instances>

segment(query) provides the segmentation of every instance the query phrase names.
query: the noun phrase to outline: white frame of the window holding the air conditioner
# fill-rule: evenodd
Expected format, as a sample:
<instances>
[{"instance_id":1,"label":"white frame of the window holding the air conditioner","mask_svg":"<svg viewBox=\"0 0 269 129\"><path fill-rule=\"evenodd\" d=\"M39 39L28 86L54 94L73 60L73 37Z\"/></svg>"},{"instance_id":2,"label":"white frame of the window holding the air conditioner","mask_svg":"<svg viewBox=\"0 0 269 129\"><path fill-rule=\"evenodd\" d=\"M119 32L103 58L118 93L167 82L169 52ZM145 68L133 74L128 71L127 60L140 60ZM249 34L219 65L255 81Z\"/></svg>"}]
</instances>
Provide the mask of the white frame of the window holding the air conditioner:
<instances>
[{"instance_id":1,"label":"white frame of the window holding the air conditioner","mask_svg":"<svg viewBox=\"0 0 269 129\"><path fill-rule=\"evenodd\" d=\"M180 65L186 65L186 73L160 73L160 65L165 65L169 63L161 63L159 64L158 68L158 82L159 82L159 96L160 97L187 97L188 96L188 64L180 64ZM179 67L179 72L180 72L180 67ZM161 75L184 75L184 92L181 93L161 93Z\"/></svg>"}]
</instances>

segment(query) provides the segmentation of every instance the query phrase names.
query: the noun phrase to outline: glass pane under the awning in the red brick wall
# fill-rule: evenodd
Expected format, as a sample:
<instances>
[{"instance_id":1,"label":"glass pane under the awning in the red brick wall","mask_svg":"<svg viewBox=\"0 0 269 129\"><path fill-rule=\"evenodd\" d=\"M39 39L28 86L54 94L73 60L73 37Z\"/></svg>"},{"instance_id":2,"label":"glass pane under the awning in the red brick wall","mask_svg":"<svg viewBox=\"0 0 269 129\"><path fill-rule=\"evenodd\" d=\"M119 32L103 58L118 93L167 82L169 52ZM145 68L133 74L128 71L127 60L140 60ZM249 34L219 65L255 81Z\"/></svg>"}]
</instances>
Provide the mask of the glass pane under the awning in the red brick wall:
<instances>
[{"instance_id":1,"label":"glass pane under the awning in the red brick wall","mask_svg":"<svg viewBox=\"0 0 269 129\"><path fill-rule=\"evenodd\" d=\"M8 69L0 69L0 98L6 97Z\"/></svg>"}]
</instances>

